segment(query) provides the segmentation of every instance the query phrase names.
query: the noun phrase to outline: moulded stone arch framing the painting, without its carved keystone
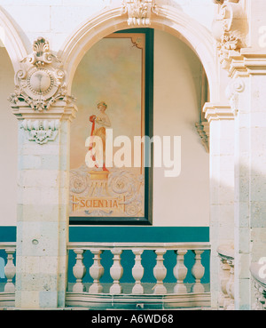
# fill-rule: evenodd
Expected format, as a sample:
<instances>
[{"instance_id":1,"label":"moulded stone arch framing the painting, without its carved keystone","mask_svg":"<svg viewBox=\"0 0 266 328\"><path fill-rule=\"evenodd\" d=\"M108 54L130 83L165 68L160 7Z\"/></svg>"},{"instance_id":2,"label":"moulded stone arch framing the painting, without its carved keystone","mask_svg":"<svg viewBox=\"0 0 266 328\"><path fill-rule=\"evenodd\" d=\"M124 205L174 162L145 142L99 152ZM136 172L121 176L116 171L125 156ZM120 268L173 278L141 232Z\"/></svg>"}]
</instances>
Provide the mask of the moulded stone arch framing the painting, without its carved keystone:
<instances>
[{"instance_id":1,"label":"moulded stone arch framing the painting, without its carved keystone","mask_svg":"<svg viewBox=\"0 0 266 328\"><path fill-rule=\"evenodd\" d=\"M129 28L128 17L121 14L121 7L107 8L85 21L66 39L59 51L59 59L67 72L68 92L71 92L74 72L83 55L101 38L121 29ZM215 51L211 32L190 16L174 7L159 7L158 14L153 14L150 28L168 31L179 37L198 55L206 71L210 89L210 101L215 100Z\"/></svg>"}]
</instances>

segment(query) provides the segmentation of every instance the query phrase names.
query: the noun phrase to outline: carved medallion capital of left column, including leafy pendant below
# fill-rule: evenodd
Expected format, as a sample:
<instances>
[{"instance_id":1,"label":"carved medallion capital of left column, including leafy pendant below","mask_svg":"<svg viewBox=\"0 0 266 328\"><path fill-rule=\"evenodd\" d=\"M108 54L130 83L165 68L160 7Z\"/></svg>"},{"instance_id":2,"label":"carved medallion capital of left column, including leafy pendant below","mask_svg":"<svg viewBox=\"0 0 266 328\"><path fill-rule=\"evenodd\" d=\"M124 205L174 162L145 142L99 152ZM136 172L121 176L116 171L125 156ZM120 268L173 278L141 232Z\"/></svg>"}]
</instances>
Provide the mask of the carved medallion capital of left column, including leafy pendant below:
<instances>
[{"instance_id":1,"label":"carved medallion capital of left column, including leafy pendant below","mask_svg":"<svg viewBox=\"0 0 266 328\"><path fill-rule=\"evenodd\" d=\"M74 97L66 92L63 64L43 37L35 40L33 52L20 61L9 100L27 139L40 145L56 140L61 121L74 118L77 108Z\"/></svg>"}]
</instances>

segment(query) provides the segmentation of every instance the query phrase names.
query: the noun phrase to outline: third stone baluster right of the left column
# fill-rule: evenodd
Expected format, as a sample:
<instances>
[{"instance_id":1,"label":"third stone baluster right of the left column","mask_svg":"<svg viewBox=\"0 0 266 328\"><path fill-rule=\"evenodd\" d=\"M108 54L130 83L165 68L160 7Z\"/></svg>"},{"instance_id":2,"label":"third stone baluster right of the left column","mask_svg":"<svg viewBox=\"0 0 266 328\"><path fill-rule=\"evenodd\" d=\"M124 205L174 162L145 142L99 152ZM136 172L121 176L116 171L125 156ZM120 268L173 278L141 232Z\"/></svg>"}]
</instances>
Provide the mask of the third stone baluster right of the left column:
<instances>
[{"instance_id":1,"label":"third stone baluster right of the left column","mask_svg":"<svg viewBox=\"0 0 266 328\"><path fill-rule=\"evenodd\" d=\"M122 250L113 249L113 266L110 268L110 275L113 278L113 285L110 288L110 294L121 294L122 287L120 284L121 276L123 275L123 268L121 266Z\"/></svg>"}]
</instances>

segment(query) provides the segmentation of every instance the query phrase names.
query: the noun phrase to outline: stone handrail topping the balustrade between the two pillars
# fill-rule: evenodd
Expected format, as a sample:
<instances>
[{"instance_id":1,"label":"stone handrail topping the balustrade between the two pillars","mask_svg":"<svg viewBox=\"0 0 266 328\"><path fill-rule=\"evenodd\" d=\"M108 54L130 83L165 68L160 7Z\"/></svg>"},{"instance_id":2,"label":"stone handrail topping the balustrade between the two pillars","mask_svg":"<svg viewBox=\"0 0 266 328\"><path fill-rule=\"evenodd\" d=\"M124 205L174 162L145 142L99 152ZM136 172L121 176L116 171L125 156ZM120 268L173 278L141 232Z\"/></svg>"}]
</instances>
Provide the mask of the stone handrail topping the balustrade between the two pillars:
<instances>
[{"instance_id":1,"label":"stone handrail topping the balustrade between the two pillars","mask_svg":"<svg viewBox=\"0 0 266 328\"><path fill-rule=\"evenodd\" d=\"M82 249L91 250L100 248L102 251L111 250L113 248L120 248L121 250L132 250L132 248L141 248L142 250L154 250L157 248L164 248L168 251L175 250L210 250L209 243L88 243L88 242L72 242L67 244L68 250Z\"/></svg>"}]
</instances>

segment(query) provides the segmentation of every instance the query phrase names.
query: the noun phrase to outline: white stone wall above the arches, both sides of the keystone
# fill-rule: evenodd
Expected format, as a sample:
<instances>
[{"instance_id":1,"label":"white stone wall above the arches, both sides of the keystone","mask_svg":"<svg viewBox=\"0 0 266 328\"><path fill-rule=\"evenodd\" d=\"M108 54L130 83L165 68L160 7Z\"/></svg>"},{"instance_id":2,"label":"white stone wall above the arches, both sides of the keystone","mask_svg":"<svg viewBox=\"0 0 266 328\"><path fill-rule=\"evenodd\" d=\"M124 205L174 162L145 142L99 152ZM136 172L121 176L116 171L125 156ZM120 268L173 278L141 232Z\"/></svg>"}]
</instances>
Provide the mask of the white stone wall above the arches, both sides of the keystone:
<instances>
[{"instance_id":1,"label":"white stone wall above the arches, both sides of the keystone","mask_svg":"<svg viewBox=\"0 0 266 328\"><path fill-rule=\"evenodd\" d=\"M157 0L188 14L211 29L215 4L211 0ZM105 8L121 6L121 0L0 0L20 37L31 52L38 36L47 37L51 49L58 52L66 38L84 21Z\"/></svg>"}]
</instances>

